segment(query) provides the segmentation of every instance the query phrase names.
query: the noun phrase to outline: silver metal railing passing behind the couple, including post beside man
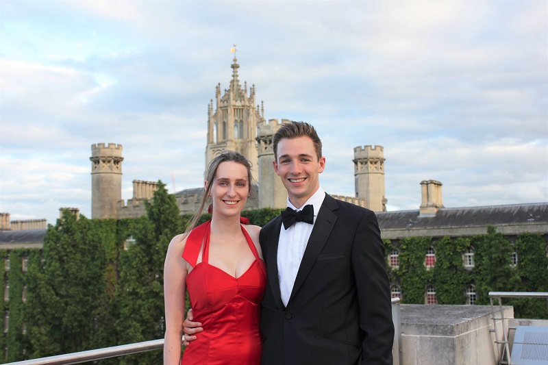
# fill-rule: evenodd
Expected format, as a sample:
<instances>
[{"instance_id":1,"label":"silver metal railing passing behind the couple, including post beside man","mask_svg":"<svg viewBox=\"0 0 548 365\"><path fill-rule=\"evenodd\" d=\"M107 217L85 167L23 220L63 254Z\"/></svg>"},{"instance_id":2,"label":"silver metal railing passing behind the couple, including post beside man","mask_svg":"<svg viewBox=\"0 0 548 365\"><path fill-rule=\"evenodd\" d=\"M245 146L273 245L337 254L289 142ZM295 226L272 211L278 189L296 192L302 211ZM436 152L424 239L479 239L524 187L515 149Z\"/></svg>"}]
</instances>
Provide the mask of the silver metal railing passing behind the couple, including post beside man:
<instances>
[{"instance_id":1,"label":"silver metal railing passing behind the couple, including post beside man","mask_svg":"<svg viewBox=\"0 0 548 365\"><path fill-rule=\"evenodd\" d=\"M394 345L392 348L392 354L394 357L394 365L400 365L402 362L401 362L401 316L400 316L400 309L399 309L399 298L392 299L392 320L395 328ZM110 357L131 355L132 353L159 350L163 348L164 348L164 339L162 338L160 340L136 342L134 344L122 344L120 346L114 346L114 347L105 347L104 349L81 351L77 353L66 353L64 355L42 357L40 359L10 362L9 364L4 364L4 365L71 365L71 364L79 364L81 362L108 359Z\"/></svg>"}]
</instances>

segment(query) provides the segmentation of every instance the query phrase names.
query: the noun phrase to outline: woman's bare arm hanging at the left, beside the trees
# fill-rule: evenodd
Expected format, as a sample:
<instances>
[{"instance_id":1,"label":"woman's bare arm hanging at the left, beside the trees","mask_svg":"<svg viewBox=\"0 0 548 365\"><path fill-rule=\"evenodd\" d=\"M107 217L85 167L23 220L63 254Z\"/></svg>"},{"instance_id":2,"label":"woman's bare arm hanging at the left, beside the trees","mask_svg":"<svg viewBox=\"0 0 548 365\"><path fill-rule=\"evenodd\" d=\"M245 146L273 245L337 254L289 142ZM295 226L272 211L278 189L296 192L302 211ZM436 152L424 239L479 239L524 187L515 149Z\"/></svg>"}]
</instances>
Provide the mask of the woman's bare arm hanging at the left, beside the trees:
<instances>
[{"instance_id":1,"label":"woman's bare arm hanging at the left, beside the trees","mask_svg":"<svg viewBox=\"0 0 548 365\"><path fill-rule=\"evenodd\" d=\"M175 236L169 243L164 264L164 305L166 310L166 335L164 340L164 365L179 365L186 297L188 263L181 257L186 242L183 235Z\"/></svg>"}]
</instances>

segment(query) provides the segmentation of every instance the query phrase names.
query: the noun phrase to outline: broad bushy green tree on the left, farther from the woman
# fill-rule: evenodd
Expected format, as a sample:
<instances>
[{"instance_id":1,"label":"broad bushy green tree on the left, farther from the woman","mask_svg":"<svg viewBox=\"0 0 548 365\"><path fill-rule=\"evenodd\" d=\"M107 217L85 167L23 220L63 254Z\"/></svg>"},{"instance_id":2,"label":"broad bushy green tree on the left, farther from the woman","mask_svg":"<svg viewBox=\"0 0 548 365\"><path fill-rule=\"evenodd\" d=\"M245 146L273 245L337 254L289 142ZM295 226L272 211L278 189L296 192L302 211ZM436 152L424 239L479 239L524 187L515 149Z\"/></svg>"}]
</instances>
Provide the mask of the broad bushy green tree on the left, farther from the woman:
<instances>
[{"instance_id":1,"label":"broad bushy green tree on the left, farther from the woman","mask_svg":"<svg viewBox=\"0 0 548 365\"><path fill-rule=\"evenodd\" d=\"M68 210L44 239L43 262L29 267L27 330L31 357L73 353L97 347L105 299L107 249L116 237L115 221L79 220Z\"/></svg>"}]
</instances>

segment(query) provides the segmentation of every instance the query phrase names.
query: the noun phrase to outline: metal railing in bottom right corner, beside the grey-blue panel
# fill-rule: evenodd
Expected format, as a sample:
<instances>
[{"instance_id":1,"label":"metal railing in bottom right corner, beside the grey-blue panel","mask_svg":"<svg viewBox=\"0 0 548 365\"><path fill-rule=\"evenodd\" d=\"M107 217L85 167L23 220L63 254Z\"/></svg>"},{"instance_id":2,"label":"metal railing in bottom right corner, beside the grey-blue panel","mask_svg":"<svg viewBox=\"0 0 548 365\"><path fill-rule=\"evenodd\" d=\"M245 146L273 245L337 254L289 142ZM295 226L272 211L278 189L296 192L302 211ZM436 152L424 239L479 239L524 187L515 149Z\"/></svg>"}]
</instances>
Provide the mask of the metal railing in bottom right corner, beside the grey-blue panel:
<instances>
[{"instance_id":1,"label":"metal railing in bottom right corner, beside the grey-blue panel","mask_svg":"<svg viewBox=\"0 0 548 365\"><path fill-rule=\"evenodd\" d=\"M495 344L497 346L497 353L499 356L498 362L499 365L502 364L512 364L512 357L510 355L510 344L508 343L508 327L506 326L505 320L510 318L504 318L504 312L502 308L502 299L503 298L547 298L548 292L489 292L489 301L491 303L491 316L493 319L493 329L492 332L495 332ZM500 312L500 317L495 316L495 304L493 303L497 299L499 301L498 307ZM502 324L502 337L497 329L497 320L501 321ZM499 344L502 347L499 349ZM506 360L504 357L506 355Z\"/></svg>"}]
</instances>

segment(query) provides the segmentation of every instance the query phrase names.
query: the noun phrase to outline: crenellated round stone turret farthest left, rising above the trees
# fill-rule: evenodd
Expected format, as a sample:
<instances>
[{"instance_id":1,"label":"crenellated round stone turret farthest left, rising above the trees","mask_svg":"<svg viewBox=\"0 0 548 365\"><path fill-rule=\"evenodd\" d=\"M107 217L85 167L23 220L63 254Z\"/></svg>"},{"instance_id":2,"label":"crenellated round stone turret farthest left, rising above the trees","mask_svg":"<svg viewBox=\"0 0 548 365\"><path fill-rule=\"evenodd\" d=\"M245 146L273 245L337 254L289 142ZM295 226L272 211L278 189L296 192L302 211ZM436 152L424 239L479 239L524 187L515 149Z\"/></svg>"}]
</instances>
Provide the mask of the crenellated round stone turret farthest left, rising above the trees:
<instances>
[{"instance_id":1,"label":"crenellated round stone turret farthest left, rising above the trees","mask_svg":"<svg viewBox=\"0 0 548 365\"><path fill-rule=\"evenodd\" d=\"M91 145L91 218L118 218L122 199L122 145Z\"/></svg>"}]
</instances>

